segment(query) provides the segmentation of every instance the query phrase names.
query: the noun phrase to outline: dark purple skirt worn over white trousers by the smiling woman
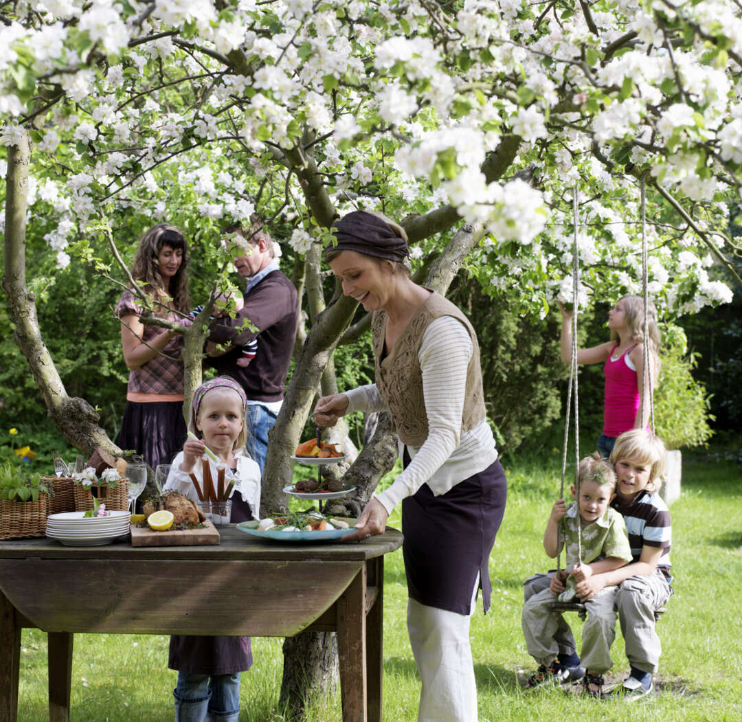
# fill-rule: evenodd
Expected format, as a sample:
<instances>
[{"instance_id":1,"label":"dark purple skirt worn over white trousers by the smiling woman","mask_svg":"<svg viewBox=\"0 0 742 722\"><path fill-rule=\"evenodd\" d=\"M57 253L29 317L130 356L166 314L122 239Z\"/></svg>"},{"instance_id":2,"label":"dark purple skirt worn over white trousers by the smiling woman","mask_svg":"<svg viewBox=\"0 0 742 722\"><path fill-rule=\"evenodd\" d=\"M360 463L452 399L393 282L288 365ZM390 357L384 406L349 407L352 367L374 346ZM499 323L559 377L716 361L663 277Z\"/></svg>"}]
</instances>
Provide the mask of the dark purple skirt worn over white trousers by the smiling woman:
<instances>
[{"instance_id":1,"label":"dark purple skirt worn over white trousers by the smiling woman","mask_svg":"<svg viewBox=\"0 0 742 722\"><path fill-rule=\"evenodd\" d=\"M409 463L407 458L405 461ZM505 471L496 461L441 496L434 496L423 484L403 500L402 552L412 599L425 606L470 614L479 574L486 613L492 593L487 565L507 496Z\"/></svg>"}]
</instances>

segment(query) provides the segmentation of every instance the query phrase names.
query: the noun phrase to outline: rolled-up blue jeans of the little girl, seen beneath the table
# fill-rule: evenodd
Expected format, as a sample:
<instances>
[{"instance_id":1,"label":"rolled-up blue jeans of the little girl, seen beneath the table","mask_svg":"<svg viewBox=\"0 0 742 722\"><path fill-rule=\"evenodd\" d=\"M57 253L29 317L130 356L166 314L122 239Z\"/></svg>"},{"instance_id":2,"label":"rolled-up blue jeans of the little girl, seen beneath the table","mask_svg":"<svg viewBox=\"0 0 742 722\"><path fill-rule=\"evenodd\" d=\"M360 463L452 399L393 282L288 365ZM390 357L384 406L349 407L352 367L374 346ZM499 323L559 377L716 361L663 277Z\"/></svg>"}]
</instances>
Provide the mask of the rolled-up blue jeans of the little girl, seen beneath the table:
<instances>
[{"instance_id":1,"label":"rolled-up blue jeans of the little girl, seen beneath the table","mask_svg":"<svg viewBox=\"0 0 742 722\"><path fill-rule=\"evenodd\" d=\"M175 722L237 722L240 716L240 672L234 675L178 672L173 697Z\"/></svg>"}]
</instances>

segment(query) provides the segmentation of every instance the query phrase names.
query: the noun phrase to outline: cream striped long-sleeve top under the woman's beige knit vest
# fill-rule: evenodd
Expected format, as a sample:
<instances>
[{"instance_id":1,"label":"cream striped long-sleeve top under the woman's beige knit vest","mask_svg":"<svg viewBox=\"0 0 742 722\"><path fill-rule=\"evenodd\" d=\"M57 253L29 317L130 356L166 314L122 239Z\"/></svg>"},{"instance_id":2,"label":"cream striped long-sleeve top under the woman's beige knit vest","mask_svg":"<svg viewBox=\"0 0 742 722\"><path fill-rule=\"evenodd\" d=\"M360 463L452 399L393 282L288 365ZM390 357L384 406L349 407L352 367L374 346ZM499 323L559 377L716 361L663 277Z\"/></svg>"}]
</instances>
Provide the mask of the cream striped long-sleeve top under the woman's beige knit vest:
<instances>
[{"instance_id":1,"label":"cream striped long-sleeve top under the woman's beige knit vest","mask_svg":"<svg viewBox=\"0 0 742 722\"><path fill-rule=\"evenodd\" d=\"M436 496L485 470L497 459L492 430L483 419L461 433L464 390L472 343L456 318L441 316L425 329L418 349L428 436L421 447L407 447L410 465L376 498L387 511L427 483ZM352 411L385 411L375 384L346 392ZM400 456L402 448L400 444Z\"/></svg>"}]
</instances>

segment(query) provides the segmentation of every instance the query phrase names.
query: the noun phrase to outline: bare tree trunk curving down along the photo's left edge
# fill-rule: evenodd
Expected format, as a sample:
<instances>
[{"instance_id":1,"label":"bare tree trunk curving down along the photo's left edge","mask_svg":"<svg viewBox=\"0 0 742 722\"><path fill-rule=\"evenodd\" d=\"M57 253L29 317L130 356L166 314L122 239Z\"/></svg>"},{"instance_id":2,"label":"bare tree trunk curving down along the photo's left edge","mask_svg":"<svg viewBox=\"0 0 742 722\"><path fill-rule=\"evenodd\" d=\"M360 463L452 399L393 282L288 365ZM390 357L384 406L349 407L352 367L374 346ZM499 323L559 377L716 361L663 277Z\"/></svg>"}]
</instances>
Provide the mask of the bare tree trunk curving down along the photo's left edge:
<instances>
[{"instance_id":1,"label":"bare tree trunk curving down along the photo's left edge","mask_svg":"<svg viewBox=\"0 0 742 722\"><path fill-rule=\"evenodd\" d=\"M16 345L26 357L47 414L59 433L86 456L96 447L119 456L121 449L99 427L96 410L83 398L71 398L54 367L42 340L36 316L36 297L26 285L26 212L30 140L24 131L19 145L7 150L7 194L5 197L5 269L3 289L16 326ZM82 341L81 341L82 343Z\"/></svg>"}]
</instances>

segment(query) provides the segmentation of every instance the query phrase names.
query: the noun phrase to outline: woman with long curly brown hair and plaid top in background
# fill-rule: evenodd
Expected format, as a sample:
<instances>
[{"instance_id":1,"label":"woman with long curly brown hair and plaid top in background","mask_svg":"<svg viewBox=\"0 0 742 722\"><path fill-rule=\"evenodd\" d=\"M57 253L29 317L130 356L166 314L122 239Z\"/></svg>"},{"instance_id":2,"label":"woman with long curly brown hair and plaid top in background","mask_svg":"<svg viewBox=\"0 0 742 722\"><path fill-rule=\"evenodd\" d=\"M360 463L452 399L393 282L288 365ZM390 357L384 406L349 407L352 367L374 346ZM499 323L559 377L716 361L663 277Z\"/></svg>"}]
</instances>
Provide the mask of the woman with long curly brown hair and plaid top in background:
<instances>
[{"instance_id":1,"label":"woman with long curly brown hair and plaid top in background","mask_svg":"<svg viewBox=\"0 0 742 722\"><path fill-rule=\"evenodd\" d=\"M142 282L158 317L181 323L190 310L187 266L188 244L177 228L157 223L142 236L131 276ZM142 454L152 468L169 464L185 439L183 336L142 324L142 306L131 289L119 298L116 315L129 369L126 408L116 441L122 449Z\"/></svg>"}]
</instances>

